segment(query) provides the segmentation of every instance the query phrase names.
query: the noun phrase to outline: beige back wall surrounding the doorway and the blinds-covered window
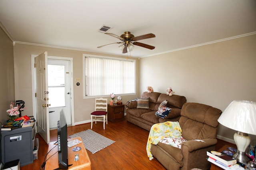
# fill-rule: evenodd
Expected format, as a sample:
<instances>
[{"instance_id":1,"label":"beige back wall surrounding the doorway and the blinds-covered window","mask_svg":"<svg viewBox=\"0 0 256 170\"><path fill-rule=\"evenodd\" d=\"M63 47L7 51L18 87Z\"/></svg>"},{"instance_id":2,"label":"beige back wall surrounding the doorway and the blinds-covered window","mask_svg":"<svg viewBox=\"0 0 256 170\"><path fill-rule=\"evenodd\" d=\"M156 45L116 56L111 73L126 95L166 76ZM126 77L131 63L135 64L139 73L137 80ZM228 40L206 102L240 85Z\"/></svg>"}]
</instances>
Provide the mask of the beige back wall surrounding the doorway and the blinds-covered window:
<instances>
[{"instance_id":1,"label":"beige back wall surrounding the doorway and the blinds-covered window","mask_svg":"<svg viewBox=\"0 0 256 170\"><path fill-rule=\"evenodd\" d=\"M15 61L15 97L17 100L24 100L26 110L22 112L24 115L33 115L32 110L32 68L31 68L31 55L39 55L44 51L48 52L48 56L57 57L70 57L73 58L73 78L81 78L80 86L76 86L76 81L74 80L74 122L90 122L90 113L94 111L94 98L83 99L83 70L82 70L82 56L86 54L85 51L76 51L68 49L58 49L50 47L42 47L35 45L24 45L16 44L14 46L14 61ZM88 53L92 55L102 55L96 53ZM110 56L110 55L106 55ZM118 56L110 56L118 57ZM120 57L120 56L119 56ZM139 61L136 59L136 66L138 69ZM137 72L139 74L139 72ZM138 87L138 76L136 86ZM137 92L138 92L137 88ZM127 100L136 98L137 95L122 96L123 103ZM110 97L108 98L110 99ZM36 115L36 114L34 114Z\"/></svg>"}]
</instances>

